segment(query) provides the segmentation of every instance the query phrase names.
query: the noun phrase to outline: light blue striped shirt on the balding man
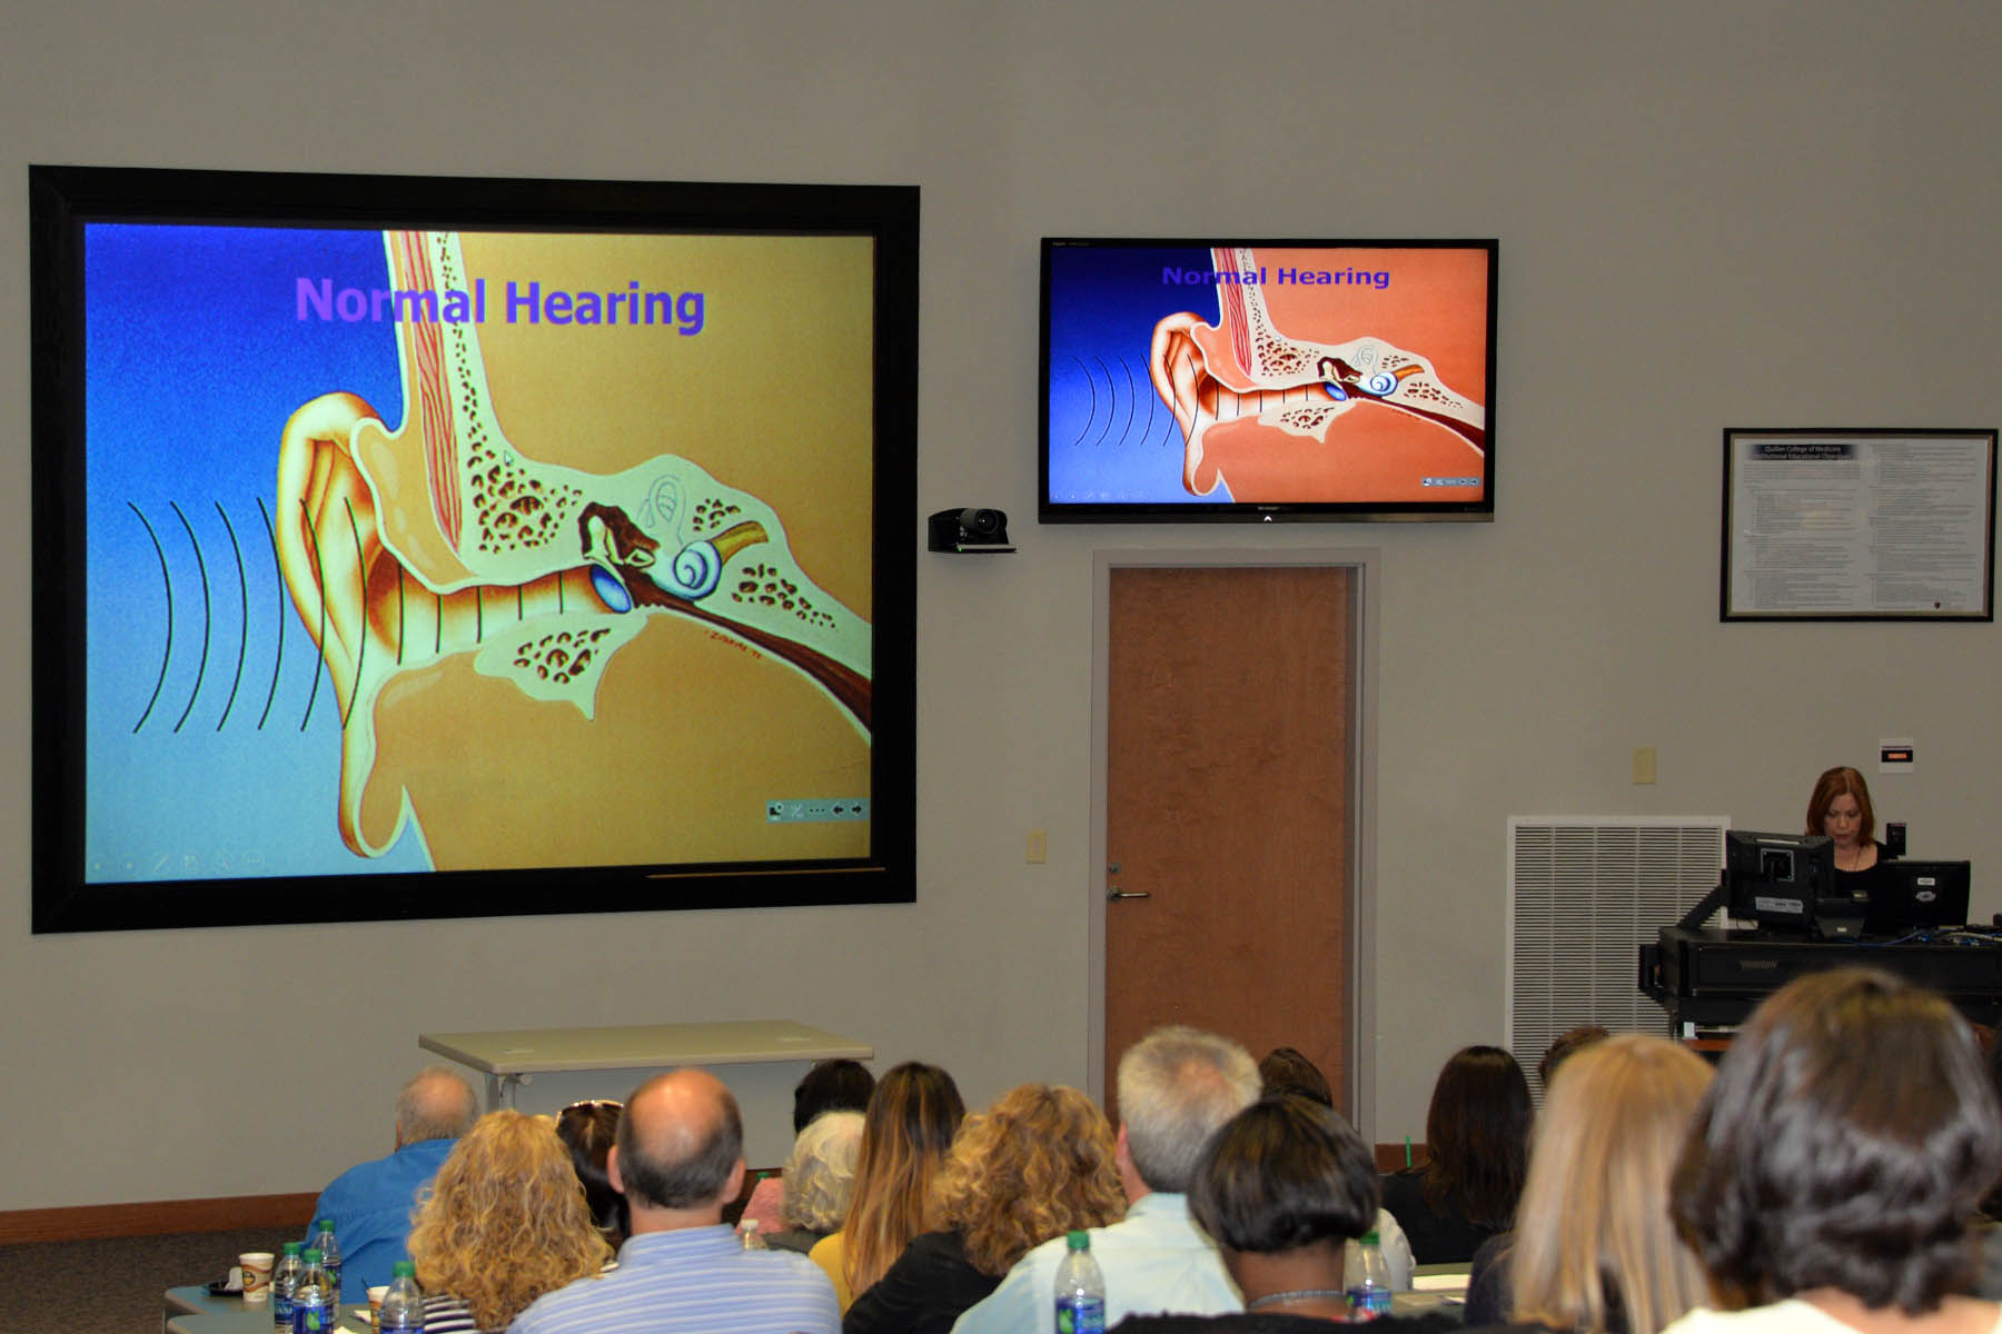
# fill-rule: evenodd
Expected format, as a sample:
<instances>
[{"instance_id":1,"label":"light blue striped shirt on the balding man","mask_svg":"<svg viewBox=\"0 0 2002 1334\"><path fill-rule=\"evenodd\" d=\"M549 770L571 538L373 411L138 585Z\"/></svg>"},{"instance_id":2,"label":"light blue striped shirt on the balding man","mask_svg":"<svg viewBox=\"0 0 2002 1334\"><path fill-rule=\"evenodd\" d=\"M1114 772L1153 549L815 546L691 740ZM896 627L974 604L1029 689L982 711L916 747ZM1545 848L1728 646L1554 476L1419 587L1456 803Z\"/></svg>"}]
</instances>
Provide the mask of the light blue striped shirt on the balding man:
<instances>
[{"instance_id":1,"label":"light blue striped shirt on the balding man","mask_svg":"<svg viewBox=\"0 0 2002 1334\"><path fill-rule=\"evenodd\" d=\"M837 1334L835 1288L813 1260L745 1250L723 1226L643 1232L619 1268L515 1316L509 1334Z\"/></svg>"}]
</instances>

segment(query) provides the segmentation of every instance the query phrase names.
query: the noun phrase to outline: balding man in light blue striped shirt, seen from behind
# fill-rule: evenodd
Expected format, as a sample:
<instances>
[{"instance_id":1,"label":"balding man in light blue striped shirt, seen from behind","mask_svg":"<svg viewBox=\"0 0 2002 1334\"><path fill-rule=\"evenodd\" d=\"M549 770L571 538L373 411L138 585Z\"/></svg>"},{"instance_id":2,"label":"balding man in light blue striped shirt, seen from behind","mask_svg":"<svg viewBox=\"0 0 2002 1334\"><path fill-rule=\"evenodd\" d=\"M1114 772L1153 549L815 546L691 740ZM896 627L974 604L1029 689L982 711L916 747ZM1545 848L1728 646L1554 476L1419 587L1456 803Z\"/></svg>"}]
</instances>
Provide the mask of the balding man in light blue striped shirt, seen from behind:
<instances>
[{"instance_id":1,"label":"balding man in light blue striped shirt, seen from behind","mask_svg":"<svg viewBox=\"0 0 2002 1334\"><path fill-rule=\"evenodd\" d=\"M511 1334L833 1334L827 1276L789 1250L745 1250L723 1222L745 1184L743 1142L737 1098L713 1074L641 1084L607 1162L633 1220L619 1268L537 1298Z\"/></svg>"}]
</instances>

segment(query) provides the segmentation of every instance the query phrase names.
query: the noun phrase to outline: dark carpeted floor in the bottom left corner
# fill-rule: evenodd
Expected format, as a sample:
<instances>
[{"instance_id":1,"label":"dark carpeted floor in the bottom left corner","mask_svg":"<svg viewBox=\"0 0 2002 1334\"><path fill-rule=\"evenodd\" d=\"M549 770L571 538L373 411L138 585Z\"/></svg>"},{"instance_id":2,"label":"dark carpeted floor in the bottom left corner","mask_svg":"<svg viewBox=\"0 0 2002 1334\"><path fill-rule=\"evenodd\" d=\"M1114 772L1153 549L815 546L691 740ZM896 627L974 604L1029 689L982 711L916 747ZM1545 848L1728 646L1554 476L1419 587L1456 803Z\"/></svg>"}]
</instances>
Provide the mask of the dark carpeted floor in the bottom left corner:
<instances>
[{"instance_id":1,"label":"dark carpeted floor in the bottom left corner","mask_svg":"<svg viewBox=\"0 0 2002 1334\"><path fill-rule=\"evenodd\" d=\"M0 1246L0 1334L158 1334L160 1294L222 1278L294 1228Z\"/></svg>"}]
</instances>

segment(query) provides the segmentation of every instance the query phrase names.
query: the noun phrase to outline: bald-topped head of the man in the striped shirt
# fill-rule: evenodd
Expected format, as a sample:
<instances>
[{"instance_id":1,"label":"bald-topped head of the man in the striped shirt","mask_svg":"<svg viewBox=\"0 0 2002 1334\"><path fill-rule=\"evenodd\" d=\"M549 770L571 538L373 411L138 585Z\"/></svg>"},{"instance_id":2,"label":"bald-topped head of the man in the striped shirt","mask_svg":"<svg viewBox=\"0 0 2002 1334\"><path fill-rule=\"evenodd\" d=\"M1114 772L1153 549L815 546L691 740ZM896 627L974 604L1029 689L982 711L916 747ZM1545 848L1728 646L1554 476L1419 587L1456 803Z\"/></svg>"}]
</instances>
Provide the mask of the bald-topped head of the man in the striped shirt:
<instances>
[{"instance_id":1,"label":"bald-topped head of the man in the striped shirt","mask_svg":"<svg viewBox=\"0 0 2002 1334\"><path fill-rule=\"evenodd\" d=\"M745 1152L737 1098L713 1074L673 1070L627 1098L619 1118L619 1180L641 1208L713 1204Z\"/></svg>"}]
</instances>

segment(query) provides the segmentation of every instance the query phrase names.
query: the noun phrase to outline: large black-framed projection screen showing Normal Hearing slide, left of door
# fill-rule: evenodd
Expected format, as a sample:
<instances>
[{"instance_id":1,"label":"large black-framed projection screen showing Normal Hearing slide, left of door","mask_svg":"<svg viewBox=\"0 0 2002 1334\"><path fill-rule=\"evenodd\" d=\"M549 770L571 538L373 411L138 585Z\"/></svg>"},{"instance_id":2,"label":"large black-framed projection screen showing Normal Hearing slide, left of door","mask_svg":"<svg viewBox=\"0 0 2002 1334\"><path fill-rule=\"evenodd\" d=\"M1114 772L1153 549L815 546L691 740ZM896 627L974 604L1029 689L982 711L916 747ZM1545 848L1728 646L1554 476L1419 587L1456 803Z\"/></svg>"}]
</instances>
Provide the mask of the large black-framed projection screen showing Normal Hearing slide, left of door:
<instances>
[{"instance_id":1,"label":"large black-framed projection screen showing Normal Hearing slide, left of door","mask_svg":"<svg viewBox=\"0 0 2002 1334\"><path fill-rule=\"evenodd\" d=\"M30 168L34 930L913 898L913 186Z\"/></svg>"}]
</instances>

